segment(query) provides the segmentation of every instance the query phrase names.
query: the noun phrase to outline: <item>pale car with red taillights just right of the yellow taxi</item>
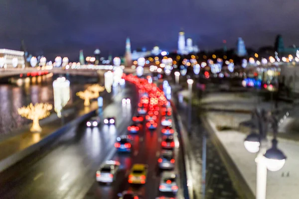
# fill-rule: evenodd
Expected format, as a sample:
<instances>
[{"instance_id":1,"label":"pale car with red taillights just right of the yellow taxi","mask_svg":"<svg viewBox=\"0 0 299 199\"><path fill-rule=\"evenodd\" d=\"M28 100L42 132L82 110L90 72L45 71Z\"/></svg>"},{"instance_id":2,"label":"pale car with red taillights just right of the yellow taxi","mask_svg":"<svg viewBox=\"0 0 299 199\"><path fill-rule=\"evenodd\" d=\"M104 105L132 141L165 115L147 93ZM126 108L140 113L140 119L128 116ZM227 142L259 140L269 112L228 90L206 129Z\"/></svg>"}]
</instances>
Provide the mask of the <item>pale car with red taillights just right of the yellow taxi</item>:
<instances>
[{"instance_id":1,"label":"pale car with red taillights just right of the yellow taxi","mask_svg":"<svg viewBox=\"0 0 299 199\"><path fill-rule=\"evenodd\" d=\"M176 194L178 191L178 186L176 184L176 175L174 172L165 171L162 173L159 191L160 192L171 192Z\"/></svg>"}]
</instances>

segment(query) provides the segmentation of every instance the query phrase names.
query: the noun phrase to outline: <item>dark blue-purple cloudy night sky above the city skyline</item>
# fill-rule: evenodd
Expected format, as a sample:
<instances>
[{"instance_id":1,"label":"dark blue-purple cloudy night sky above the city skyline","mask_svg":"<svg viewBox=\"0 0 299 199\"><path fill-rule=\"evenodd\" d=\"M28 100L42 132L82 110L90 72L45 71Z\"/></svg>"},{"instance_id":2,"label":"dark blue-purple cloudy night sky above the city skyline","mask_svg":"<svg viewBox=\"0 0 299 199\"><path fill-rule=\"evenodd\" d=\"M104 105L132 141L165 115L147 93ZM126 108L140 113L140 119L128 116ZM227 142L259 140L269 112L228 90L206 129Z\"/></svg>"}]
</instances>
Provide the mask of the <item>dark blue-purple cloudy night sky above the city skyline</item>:
<instances>
[{"instance_id":1,"label":"dark blue-purple cloudy night sky above the city skyline","mask_svg":"<svg viewBox=\"0 0 299 199\"><path fill-rule=\"evenodd\" d=\"M234 47L274 45L281 33L285 45L299 45L299 0L0 0L0 48L20 49L50 59L78 59L96 48L103 56L120 56L125 39L132 50L158 45L175 50L178 31L201 50L227 40Z\"/></svg>"}]
</instances>

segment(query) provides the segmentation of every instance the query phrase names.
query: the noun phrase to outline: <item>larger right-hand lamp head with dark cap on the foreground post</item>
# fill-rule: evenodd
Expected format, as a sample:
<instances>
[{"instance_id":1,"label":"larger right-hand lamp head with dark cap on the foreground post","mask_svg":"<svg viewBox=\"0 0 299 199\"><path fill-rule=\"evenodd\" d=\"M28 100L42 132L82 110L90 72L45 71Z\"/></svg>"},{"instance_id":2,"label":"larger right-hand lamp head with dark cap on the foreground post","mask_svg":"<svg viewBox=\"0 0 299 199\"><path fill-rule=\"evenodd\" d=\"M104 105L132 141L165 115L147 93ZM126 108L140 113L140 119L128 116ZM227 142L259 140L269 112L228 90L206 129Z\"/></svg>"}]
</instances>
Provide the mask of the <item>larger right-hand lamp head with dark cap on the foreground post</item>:
<instances>
[{"instance_id":1,"label":"larger right-hand lamp head with dark cap on the foreground post","mask_svg":"<svg viewBox=\"0 0 299 199\"><path fill-rule=\"evenodd\" d=\"M266 166L270 171L279 171L286 163L287 157L277 148L277 140L272 140L272 148L268 149L264 155Z\"/></svg>"}]
</instances>

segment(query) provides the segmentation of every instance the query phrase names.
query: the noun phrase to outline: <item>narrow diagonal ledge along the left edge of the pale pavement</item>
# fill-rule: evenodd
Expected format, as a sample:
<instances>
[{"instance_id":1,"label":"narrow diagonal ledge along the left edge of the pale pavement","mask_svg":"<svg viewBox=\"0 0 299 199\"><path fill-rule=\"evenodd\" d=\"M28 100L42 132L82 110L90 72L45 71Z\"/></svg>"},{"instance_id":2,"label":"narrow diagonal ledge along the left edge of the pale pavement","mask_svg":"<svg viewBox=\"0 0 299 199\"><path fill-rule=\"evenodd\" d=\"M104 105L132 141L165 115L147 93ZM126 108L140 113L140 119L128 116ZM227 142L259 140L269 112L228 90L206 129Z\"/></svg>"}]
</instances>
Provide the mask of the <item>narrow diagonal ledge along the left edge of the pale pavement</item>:
<instances>
[{"instance_id":1,"label":"narrow diagonal ledge along the left edge of the pale pavement","mask_svg":"<svg viewBox=\"0 0 299 199\"><path fill-rule=\"evenodd\" d=\"M217 134L215 133L213 127L209 123L208 119L204 116L200 116L200 119L205 126L207 132L210 135L210 138L212 142L214 143L214 146L216 147L216 150L218 151L227 171L229 177L232 179L232 183L238 193L238 195L241 197L241 199L255 199L254 193L251 191L250 187L246 183L243 175L239 171L237 165L234 163L233 159L230 157L228 152L226 151L225 147L219 140Z\"/></svg>"}]
</instances>

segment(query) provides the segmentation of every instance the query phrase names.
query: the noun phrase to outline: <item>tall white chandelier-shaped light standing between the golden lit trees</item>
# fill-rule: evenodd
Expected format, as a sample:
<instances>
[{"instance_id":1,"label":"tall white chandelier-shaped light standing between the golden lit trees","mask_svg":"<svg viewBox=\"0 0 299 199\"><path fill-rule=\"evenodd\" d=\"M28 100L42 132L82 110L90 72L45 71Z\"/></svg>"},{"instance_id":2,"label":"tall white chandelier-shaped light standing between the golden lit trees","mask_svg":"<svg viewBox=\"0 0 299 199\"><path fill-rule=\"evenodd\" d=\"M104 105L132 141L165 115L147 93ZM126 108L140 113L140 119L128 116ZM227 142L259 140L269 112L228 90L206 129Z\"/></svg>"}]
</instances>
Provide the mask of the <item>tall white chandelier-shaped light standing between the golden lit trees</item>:
<instances>
[{"instance_id":1,"label":"tall white chandelier-shaped light standing between the golden lit trees","mask_svg":"<svg viewBox=\"0 0 299 199\"><path fill-rule=\"evenodd\" d=\"M70 100L70 81L65 77L57 78L53 82L54 110L61 117L61 110Z\"/></svg>"}]
</instances>

